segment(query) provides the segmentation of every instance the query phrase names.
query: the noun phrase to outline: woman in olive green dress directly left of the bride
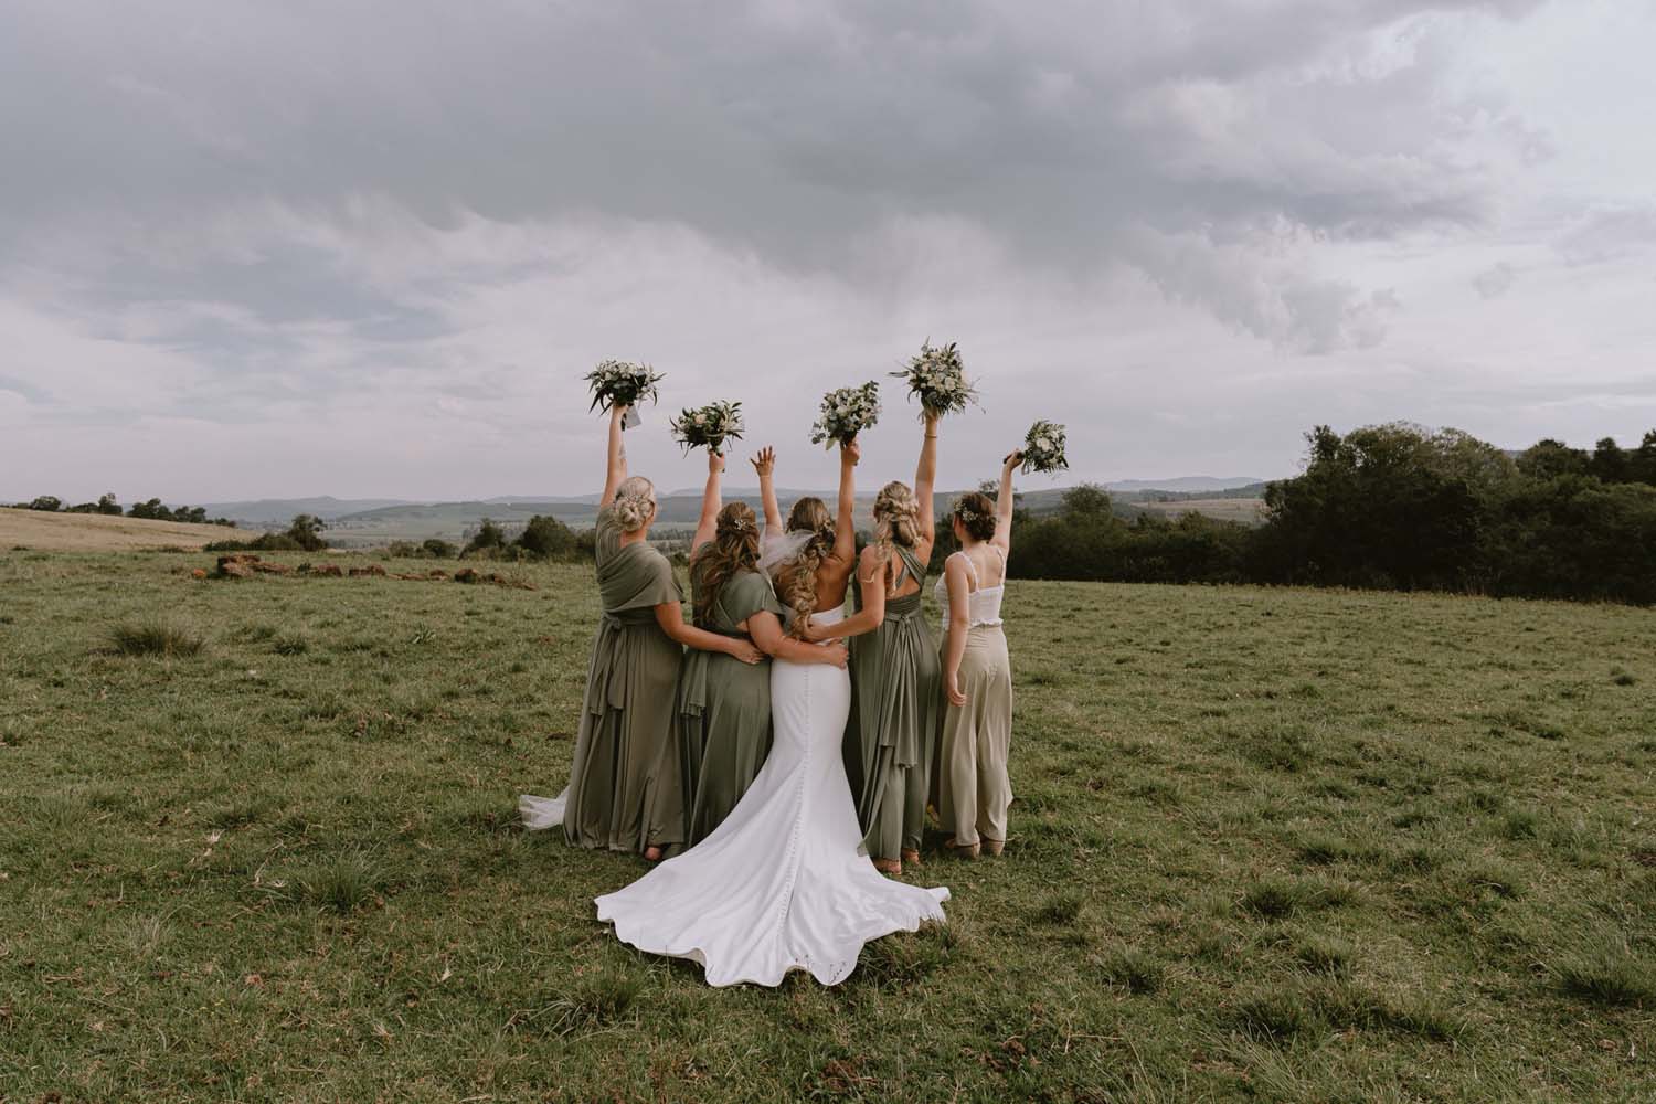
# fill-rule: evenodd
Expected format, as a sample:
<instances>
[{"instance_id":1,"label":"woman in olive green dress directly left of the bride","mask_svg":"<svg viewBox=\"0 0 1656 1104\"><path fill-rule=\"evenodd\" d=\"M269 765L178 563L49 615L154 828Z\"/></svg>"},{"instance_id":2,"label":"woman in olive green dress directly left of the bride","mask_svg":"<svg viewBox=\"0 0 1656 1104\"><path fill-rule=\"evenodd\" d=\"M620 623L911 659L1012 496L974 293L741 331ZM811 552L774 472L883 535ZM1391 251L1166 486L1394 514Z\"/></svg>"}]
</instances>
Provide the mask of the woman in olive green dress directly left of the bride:
<instances>
[{"instance_id":1,"label":"woman in olive green dress directly left of the bride","mask_svg":"<svg viewBox=\"0 0 1656 1104\"><path fill-rule=\"evenodd\" d=\"M710 455L691 554L696 626L752 641L767 655L845 667L843 646L805 644L783 634L782 602L757 569L758 521L747 503L720 508L722 472L724 457ZM724 823L770 753L770 662L753 667L717 652L686 652L679 733L691 808L687 842L694 846Z\"/></svg>"}]
</instances>

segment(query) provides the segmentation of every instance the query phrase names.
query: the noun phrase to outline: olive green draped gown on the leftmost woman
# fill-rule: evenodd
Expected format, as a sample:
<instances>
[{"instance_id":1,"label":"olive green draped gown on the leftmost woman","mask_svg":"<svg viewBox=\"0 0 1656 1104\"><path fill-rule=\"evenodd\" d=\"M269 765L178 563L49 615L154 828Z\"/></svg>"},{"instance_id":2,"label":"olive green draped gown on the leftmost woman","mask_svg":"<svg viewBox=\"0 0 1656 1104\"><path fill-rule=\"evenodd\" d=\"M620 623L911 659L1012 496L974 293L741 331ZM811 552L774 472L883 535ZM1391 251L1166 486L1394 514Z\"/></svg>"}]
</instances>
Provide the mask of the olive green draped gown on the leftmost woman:
<instances>
[{"instance_id":1,"label":"olive green draped gown on the leftmost woman","mask_svg":"<svg viewBox=\"0 0 1656 1104\"><path fill-rule=\"evenodd\" d=\"M656 606L684 599L672 564L647 543L621 546L614 508L598 515L598 594L581 730L563 831L609 851L684 844L684 775L672 708L684 649L656 624Z\"/></svg>"}]
</instances>

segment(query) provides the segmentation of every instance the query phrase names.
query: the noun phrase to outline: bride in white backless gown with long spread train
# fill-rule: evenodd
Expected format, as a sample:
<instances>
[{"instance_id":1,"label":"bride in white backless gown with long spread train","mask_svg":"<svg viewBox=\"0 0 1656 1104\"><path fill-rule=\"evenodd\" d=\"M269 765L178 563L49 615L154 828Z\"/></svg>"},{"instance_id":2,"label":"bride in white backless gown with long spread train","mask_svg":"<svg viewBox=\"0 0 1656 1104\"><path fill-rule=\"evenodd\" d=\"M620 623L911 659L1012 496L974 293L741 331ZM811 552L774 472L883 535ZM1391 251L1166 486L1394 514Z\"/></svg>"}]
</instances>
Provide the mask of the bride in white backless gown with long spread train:
<instances>
[{"instance_id":1,"label":"bride in white backless gown with long spread train","mask_svg":"<svg viewBox=\"0 0 1656 1104\"><path fill-rule=\"evenodd\" d=\"M765 497L765 556L783 604L815 624L840 621L856 563L853 468L841 449L840 516L818 498L795 503L783 533L773 455L758 468ZM753 785L702 842L631 886L598 897L598 919L639 950L699 962L709 985L780 985L808 970L823 985L856 968L863 945L942 920L944 887L889 881L861 849L856 803L841 760L851 675L826 664L775 660L770 675L773 743Z\"/></svg>"}]
</instances>

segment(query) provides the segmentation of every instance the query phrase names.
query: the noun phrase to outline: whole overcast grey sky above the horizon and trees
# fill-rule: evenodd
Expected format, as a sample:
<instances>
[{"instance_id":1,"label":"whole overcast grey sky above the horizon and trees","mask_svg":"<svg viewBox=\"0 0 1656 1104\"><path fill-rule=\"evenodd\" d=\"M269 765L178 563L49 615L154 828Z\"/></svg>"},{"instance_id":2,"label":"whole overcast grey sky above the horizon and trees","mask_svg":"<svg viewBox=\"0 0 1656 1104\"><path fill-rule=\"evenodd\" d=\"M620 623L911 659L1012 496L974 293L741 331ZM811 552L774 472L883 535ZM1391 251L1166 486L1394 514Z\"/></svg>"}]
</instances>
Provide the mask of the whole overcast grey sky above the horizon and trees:
<instances>
[{"instance_id":1,"label":"whole overcast grey sky above the horizon and trees","mask_svg":"<svg viewBox=\"0 0 1656 1104\"><path fill-rule=\"evenodd\" d=\"M591 492L609 356L636 472L724 397L828 485L821 392L927 336L949 485L1035 417L1098 480L1636 444L1653 55L1648 0L7 0L0 500ZM889 386L866 482L917 440Z\"/></svg>"}]
</instances>

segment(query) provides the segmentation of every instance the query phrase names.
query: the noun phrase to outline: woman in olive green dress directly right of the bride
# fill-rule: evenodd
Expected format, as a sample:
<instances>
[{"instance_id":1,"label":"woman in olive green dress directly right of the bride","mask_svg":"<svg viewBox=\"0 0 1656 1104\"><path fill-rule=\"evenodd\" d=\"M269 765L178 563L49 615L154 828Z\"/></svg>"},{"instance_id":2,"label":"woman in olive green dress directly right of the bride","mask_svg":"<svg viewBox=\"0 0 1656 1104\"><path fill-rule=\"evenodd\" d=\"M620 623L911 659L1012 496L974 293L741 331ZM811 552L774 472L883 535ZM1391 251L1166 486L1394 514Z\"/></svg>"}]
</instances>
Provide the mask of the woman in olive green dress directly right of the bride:
<instances>
[{"instance_id":1,"label":"woman in olive green dress directly right of the bride","mask_svg":"<svg viewBox=\"0 0 1656 1104\"><path fill-rule=\"evenodd\" d=\"M888 483L874 498L874 541L858 559L858 612L808 632L851 641L851 708L846 740L861 760L858 819L874 866L901 874L919 866L921 831L942 712L937 641L921 611L926 564L937 540L932 485L937 415L924 414L914 490Z\"/></svg>"}]
</instances>

